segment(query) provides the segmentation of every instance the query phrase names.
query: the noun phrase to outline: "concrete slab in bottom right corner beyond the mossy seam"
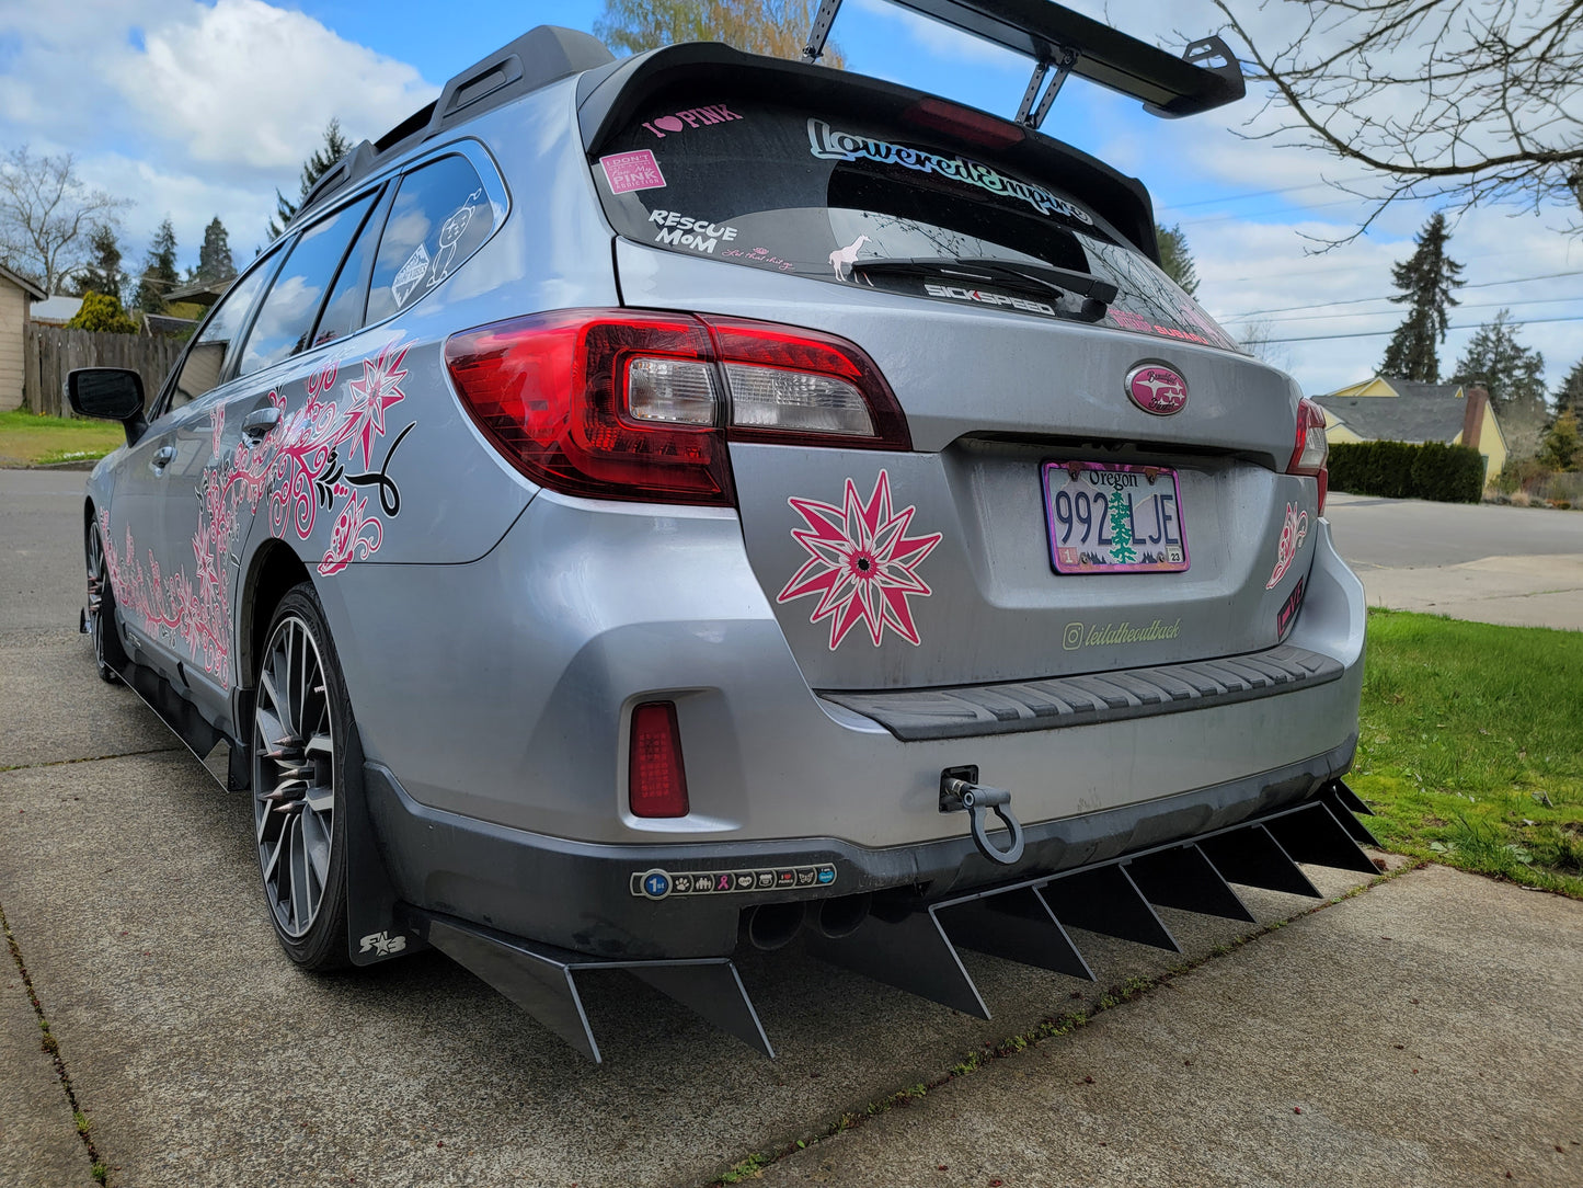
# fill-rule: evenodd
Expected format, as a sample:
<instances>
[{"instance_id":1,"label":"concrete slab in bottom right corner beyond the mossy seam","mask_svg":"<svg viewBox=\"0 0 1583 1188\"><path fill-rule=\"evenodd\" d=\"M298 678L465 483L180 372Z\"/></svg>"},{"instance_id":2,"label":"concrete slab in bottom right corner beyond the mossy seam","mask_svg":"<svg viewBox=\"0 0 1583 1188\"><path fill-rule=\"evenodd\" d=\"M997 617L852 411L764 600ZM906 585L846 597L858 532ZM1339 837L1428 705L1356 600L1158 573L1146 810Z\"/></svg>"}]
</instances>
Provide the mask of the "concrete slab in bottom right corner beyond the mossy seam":
<instances>
[{"instance_id":1,"label":"concrete slab in bottom right corner beyond the mossy seam","mask_svg":"<svg viewBox=\"0 0 1583 1188\"><path fill-rule=\"evenodd\" d=\"M761 1183L1575 1188L1580 987L1583 903L1429 866L814 1144Z\"/></svg>"}]
</instances>

